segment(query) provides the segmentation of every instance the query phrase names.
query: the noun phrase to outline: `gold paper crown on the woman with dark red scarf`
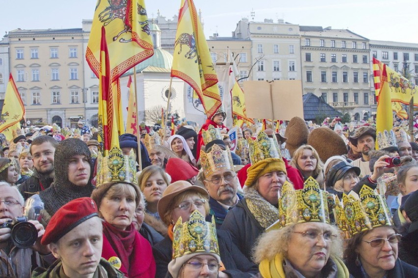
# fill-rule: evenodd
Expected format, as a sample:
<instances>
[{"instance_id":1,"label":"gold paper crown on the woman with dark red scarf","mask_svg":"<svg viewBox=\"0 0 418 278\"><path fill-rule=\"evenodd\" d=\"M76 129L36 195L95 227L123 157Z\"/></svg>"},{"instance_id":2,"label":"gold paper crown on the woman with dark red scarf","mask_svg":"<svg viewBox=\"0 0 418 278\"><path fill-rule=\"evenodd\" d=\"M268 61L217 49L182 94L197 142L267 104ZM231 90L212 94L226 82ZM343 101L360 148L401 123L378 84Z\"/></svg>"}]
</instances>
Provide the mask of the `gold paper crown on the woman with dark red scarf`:
<instances>
[{"instance_id":1,"label":"gold paper crown on the woman with dark red scarf","mask_svg":"<svg viewBox=\"0 0 418 278\"><path fill-rule=\"evenodd\" d=\"M138 184L133 152L130 155L124 155L121 149L114 147L105 157L99 152L97 161L96 187L117 182Z\"/></svg>"}]
</instances>

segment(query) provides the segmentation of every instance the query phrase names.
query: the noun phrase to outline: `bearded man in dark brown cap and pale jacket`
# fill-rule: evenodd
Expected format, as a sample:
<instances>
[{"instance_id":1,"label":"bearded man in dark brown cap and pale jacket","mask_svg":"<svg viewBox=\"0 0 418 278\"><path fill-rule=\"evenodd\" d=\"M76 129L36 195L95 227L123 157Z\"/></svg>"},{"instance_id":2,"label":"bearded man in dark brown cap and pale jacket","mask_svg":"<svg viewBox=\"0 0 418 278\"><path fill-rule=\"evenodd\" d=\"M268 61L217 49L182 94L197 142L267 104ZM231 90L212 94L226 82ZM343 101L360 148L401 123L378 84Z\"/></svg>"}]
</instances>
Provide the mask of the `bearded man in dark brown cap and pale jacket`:
<instances>
[{"instance_id":1,"label":"bearded man in dark brown cap and pale jacket","mask_svg":"<svg viewBox=\"0 0 418 278\"><path fill-rule=\"evenodd\" d=\"M360 126L354 131L353 136L348 137L348 140L362 152L362 157L352 162L354 166L360 168L360 177L370 175L369 152L375 148L376 130L371 126Z\"/></svg>"}]
</instances>

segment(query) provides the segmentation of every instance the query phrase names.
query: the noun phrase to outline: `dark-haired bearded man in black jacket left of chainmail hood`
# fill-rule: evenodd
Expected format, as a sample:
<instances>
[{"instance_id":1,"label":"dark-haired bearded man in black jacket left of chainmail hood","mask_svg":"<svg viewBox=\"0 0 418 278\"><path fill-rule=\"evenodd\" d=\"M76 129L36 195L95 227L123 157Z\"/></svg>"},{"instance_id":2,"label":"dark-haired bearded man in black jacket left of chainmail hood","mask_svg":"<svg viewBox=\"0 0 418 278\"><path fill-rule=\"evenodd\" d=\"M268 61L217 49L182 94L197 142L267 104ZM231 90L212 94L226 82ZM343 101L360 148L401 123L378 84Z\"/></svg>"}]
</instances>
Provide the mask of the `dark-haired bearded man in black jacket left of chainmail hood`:
<instances>
[{"instance_id":1,"label":"dark-haired bearded man in black jacket left of chainmail hood","mask_svg":"<svg viewBox=\"0 0 418 278\"><path fill-rule=\"evenodd\" d=\"M29 152L32 155L33 167L35 169L32 176L19 187L25 201L33 194L50 187L55 177L53 156L57 146L58 143L51 136L42 135L33 139Z\"/></svg>"}]
</instances>

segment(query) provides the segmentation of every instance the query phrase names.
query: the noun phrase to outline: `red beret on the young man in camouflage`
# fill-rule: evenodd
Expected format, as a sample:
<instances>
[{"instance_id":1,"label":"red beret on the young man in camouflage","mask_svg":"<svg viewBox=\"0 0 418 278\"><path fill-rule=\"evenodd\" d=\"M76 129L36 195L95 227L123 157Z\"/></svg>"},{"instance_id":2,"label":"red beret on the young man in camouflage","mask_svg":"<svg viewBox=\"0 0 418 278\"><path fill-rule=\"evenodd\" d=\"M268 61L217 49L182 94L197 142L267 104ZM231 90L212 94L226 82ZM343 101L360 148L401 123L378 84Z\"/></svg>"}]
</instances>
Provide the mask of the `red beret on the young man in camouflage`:
<instances>
[{"instance_id":1,"label":"red beret on the young man in camouflage","mask_svg":"<svg viewBox=\"0 0 418 278\"><path fill-rule=\"evenodd\" d=\"M57 242L84 221L99 216L96 203L88 197L72 200L58 209L45 229L41 244Z\"/></svg>"}]
</instances>

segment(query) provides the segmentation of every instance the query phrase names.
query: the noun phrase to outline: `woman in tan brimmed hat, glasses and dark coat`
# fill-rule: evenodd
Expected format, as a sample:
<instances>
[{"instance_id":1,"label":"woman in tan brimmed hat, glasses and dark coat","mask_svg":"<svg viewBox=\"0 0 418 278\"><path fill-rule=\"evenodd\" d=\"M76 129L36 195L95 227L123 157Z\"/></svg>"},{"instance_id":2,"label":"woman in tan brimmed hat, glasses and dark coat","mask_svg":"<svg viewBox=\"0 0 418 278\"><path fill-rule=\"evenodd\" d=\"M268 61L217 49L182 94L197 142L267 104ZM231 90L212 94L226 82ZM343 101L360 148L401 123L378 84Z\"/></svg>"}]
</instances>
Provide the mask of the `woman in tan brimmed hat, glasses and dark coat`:
<instances>
[{"instance_id":1,"label":"woman in tan brimmed hat, glasses and dark coat","mask_svg":"<svg viewBox=\"0 0 418 278\"><path fill-rule=\"evenodd\" d=\"M157 263L156 277L166 277L168 264L172 260L173 228L179 218L189 221L190 215L199 211L206 216L209 213L208 192L200 186L179 180L170 184L158 201L158 213L168 226L168 235L153 246ZM231 235L223 230L217 231L221 265L218 277L249 278L258 273L257 266L239 252L233 244ZM169 277L169 276L168 276Z\"/></svg>"}]
</instances>

